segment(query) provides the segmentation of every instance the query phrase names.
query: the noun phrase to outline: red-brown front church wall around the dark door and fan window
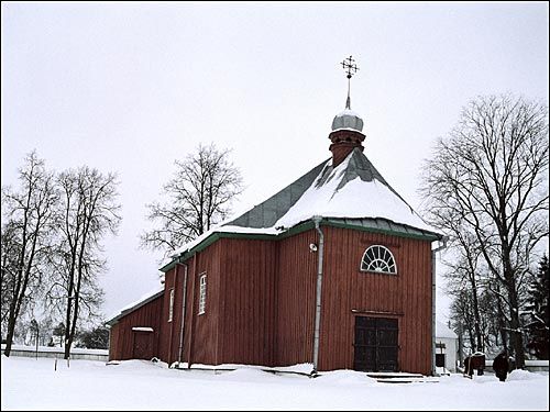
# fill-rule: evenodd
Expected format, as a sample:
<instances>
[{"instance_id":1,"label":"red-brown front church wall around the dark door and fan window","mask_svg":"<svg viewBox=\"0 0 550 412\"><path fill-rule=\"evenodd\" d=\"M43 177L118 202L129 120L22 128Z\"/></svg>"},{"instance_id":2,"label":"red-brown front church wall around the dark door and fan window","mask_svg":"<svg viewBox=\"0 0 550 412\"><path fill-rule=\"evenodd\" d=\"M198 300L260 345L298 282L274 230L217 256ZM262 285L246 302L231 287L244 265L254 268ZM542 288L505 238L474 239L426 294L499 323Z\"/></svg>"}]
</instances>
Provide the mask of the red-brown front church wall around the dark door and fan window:
<instances>
[{"instance_id":1,"label":"red-brown front church wall around the dark door and fan window","mask_svg":"<svg viewBox=\"0 0 550 412\"><path fill-rule=\"evenodd\" d=\"M321 226L324 232L319 369L353 368L356 315L398 320L403 371L431 369L431 244ZM371 245L391 249L397 275L360 270Z\"/></svg>"}]
</instances>

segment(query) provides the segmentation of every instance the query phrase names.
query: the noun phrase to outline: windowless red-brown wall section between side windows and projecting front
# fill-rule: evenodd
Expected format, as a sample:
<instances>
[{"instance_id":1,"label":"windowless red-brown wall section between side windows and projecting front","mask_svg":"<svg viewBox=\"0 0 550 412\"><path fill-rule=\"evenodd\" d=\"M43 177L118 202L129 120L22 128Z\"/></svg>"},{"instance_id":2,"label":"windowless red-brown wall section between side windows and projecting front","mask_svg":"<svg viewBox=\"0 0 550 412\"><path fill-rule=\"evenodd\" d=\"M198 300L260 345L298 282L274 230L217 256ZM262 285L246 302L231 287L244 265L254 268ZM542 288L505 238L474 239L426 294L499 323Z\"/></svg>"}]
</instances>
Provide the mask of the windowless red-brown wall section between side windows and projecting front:
<instances>
[{"instance_id":1,"label":"windowless red-brown wall section between side windows and projecting front","mask_svg":"<svg viewBox=\"0 0 550 412\"><path fill-rule=\"evenodd\" d=\"M217 364L274 364L277 242L221 238Z\"/></svg>"}]
</instances>

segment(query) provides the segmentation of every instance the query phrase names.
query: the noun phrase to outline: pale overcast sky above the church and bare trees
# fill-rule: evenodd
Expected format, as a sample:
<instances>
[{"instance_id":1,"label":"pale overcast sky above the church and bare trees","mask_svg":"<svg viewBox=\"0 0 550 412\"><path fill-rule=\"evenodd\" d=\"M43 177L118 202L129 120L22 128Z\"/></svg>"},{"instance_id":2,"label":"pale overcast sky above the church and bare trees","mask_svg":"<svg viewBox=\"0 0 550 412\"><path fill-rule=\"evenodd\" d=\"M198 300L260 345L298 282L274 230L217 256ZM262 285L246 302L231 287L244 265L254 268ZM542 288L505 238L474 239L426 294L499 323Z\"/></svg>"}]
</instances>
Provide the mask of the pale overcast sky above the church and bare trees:
<instances>
[{"instance_id":1,"label":"pale overcast sky above the church and bare trees","mask_svg":"<svg viewBox=\"0 0 550 412\"><path fill-rule=\"evenodd\" d=\"M353 55L365 154L417 210L422 160L479 94L548 104L549 7L517 3L1 3L1 183L36 149L120 180L105 313L158 285L145 204L199 143L232 148L243 212L330 157ZM438 290L444 319L448 300Z\"/></svg>"}]
</instances>

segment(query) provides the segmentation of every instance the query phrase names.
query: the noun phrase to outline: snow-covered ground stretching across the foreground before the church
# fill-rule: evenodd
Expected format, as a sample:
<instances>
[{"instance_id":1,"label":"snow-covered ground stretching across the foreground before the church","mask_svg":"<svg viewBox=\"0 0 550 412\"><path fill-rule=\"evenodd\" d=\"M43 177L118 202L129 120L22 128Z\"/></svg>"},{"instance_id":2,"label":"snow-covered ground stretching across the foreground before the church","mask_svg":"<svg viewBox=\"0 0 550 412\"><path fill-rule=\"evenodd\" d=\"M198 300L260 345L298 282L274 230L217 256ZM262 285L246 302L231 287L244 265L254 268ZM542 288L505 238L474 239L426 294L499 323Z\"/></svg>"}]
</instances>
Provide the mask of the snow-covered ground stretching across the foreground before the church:
<instances>
[{"instance_id":1,"label":"snow-covered ground stretching across the foreground before the church","mask_svg":"<svg viewBox=\"0 0 550 412\"><path fill-rule=\"evenodd\" d=\"M24 358L2 355L4 410L546 410L548 372L461 375L429 383L380 383L337 370L310 379L241 368L168 369L166 364Z\"/></svg>"}]
</instances>

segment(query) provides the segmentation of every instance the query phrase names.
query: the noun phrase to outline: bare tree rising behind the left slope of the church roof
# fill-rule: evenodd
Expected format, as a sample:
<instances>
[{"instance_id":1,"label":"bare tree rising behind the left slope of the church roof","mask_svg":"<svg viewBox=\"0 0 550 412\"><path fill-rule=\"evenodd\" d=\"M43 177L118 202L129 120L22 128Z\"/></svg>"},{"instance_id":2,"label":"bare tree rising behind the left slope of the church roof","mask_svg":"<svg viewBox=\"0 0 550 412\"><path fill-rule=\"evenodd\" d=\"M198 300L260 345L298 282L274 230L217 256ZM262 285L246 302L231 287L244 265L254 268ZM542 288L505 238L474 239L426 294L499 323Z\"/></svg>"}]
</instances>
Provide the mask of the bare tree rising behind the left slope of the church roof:
<instances>
[{"instance_id":1,"label":"bare tree rising behind the left slope of the church roof","mask_svg":"<svg viewBox=\"0 0 550 412\"><path fill-rule=\"evenodd\" d=\"M243 190L241 172L229 155L229 149L213 144L199 145L185 160L175 162L174 177L164 186L169 200L147 204L147 219L160 227L141 235L142 246L168 256L228 216L231 202Z\"/></svg>"}]
</instances>

